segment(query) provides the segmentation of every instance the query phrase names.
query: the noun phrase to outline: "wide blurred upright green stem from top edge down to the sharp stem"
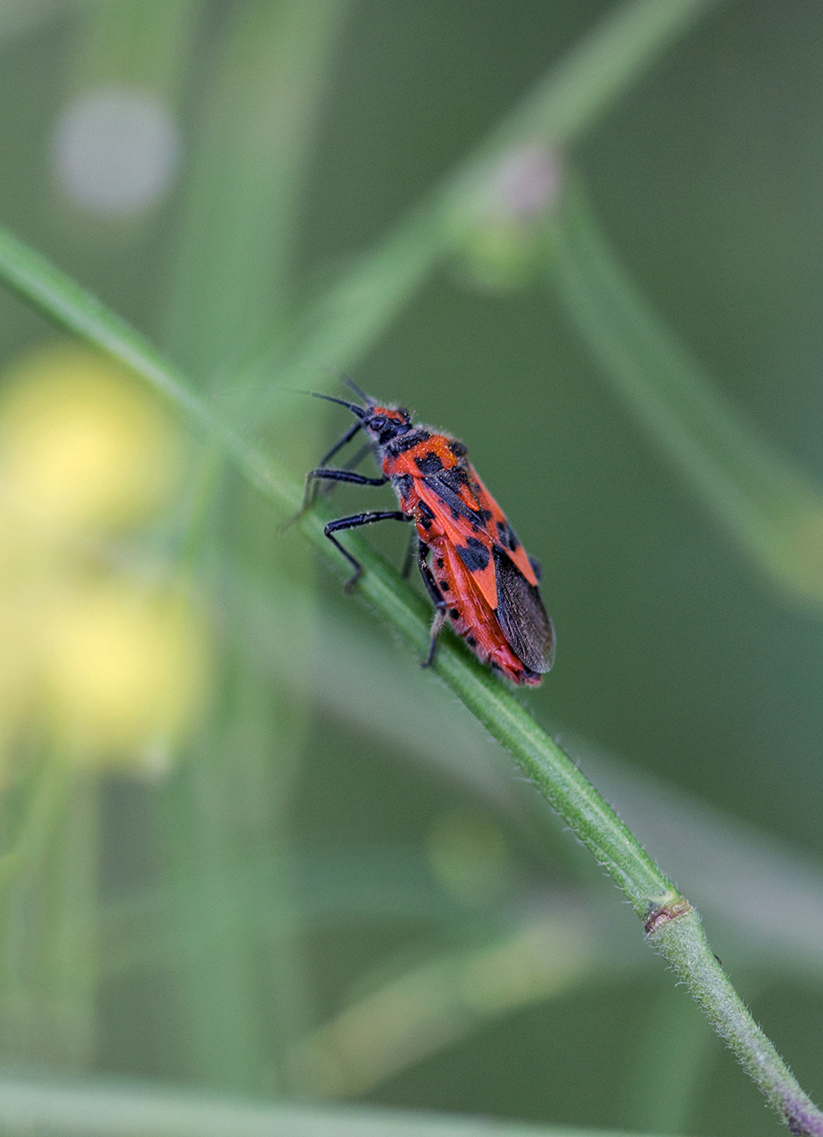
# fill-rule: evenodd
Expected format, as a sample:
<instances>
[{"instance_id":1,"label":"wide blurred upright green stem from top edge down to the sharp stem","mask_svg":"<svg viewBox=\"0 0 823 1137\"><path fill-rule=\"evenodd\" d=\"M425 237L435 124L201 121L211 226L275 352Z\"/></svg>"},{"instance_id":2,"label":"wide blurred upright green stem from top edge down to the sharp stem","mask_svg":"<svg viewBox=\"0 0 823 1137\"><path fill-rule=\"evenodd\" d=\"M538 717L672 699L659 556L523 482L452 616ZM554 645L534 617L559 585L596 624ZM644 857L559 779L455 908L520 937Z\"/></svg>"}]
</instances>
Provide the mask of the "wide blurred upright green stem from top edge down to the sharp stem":
<instances>
[{"instance_id":1,"label":"wide blurred upright green stem from top edge down to the sharp stem","mask_svg":"<svg viewBox=\"0 0 823 1137\"><path fill-rule=\"evenodd\" d=\"M198 380L236 384L233 363L250 338L282 334L304 179L347 8L246 0L231 10L198 108L161 309L168 351Z\"/></svg>"}]
</instances>

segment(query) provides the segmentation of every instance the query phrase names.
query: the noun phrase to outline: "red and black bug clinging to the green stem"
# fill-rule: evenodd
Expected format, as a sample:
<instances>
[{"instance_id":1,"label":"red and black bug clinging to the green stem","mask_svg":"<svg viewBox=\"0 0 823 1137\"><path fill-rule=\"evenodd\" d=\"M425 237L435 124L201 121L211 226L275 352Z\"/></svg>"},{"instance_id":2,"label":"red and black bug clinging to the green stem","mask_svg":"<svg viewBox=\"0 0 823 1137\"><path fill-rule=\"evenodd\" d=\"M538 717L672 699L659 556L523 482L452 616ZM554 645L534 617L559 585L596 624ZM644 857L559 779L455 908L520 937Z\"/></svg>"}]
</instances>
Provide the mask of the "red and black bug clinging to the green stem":
<instances>
[{"instance_id":1,"label":"red and black bug clinging to the green stem","mask_svg":"<svg viewBox=\"0 0 823 1137\"><path fill-rule=\"evenodd\" d=\"M399 509L369 509L339 517L325 526L326 537L354 570L347 590L359 580L363 565L335 533L377 521L413 522L417 565L435 608L423 666L432 664L448 617L481 662L515 683L539 683L555 655L555 629L538 588L540 568L477 478L466 447L450 434L413 423L405 408L380 406L351 380L344 382L363 399L363 406L313 392L347 407L357 421L307 475L304 508L316 496L322 480L356 485L391 482L400 505ZM364 431L368 447L347 468L329 466L358 431ZM367 478L352 468L368 449L380 466L379 478ZM407 572L414 551L409 546Z\"/></svg>"}]
</instances>

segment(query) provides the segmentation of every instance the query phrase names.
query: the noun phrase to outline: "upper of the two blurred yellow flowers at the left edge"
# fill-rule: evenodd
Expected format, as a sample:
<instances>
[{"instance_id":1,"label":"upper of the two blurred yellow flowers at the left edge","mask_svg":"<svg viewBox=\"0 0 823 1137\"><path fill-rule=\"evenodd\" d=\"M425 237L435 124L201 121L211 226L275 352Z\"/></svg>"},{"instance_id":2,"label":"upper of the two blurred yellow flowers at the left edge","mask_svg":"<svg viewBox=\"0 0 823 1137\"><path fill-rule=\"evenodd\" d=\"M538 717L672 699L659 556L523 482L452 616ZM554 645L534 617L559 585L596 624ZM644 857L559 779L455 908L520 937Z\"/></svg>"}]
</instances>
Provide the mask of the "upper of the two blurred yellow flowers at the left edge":
<instances>
[{"instance_id":1,"label":"upper of the two blurred yellow flowers at the left edge","mask_svg":"<svg viewBox=\"0 0 823 1137\"><path fill-rule=\"evenodd\" d=\"M180 442L127 372L74 345L32 352L0 397L0 484L31 523L134 523L167 499Z\"/></svg>"}]
</instances>

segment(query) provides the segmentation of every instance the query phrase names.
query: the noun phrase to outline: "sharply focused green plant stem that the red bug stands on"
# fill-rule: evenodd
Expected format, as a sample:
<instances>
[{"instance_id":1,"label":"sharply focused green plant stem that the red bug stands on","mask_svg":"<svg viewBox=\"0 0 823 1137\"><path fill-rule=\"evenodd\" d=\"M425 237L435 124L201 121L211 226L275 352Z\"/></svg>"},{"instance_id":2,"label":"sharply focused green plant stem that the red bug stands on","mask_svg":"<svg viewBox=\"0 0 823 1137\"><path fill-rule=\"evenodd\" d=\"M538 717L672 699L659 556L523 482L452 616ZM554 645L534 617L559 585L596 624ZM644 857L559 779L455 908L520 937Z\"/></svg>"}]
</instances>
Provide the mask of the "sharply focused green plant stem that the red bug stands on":
<instances>
[{"instance_id":1,"label":"sharply focused green plant stem that the red bug stands on","mask_svg":"<svg viewBox=\"0 0 823 1137\"><path fill-rule=\"evenodd\" d=\"M300 497L299 487L276 472L240 435L227 432L136 332L2 231L0 279L55 323L132 367L206 430L252 485L282 508L294 507ZM339 558L323 534L323 520L313 512L301 517L298 525L318 551L340 568ZM368 545L352 536L350 548L366 570L358 586L359 595L422 656L431 615L425 601ZM706 941L697 915L575 764L502 683L465 649L454 645L452 637L444 637L434 670L512 754L566 824L623 888L634 911L645 920L650 941L687 982L718 1034L792 1132L823 1137L823 1114L803 1093L734 993Z\"/></svg>"}]
</instances>

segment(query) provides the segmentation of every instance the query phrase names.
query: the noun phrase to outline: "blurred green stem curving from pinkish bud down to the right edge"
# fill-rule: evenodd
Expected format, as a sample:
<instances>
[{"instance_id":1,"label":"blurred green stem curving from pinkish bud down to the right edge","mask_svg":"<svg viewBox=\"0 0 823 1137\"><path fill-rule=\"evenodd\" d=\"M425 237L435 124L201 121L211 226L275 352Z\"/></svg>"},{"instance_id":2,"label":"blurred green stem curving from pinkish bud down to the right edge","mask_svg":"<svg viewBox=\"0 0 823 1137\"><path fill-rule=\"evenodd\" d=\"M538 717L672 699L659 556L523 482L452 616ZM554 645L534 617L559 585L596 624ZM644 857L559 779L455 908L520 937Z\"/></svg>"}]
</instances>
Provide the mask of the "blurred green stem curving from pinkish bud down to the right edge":
<instances>
[{"instance_id":1,"label":"blurred green stem curving from pinkish bud down to the right edge","mask_svg":"<svg viewBox=\"0 0 823 1137\"><path fill-rule=\"evenodd\" d=\"M823 489L749 426L646 305L581 188L555 226L551 283L664 456L793 598L823 606Z\"/></svg>"}]
</instances>

